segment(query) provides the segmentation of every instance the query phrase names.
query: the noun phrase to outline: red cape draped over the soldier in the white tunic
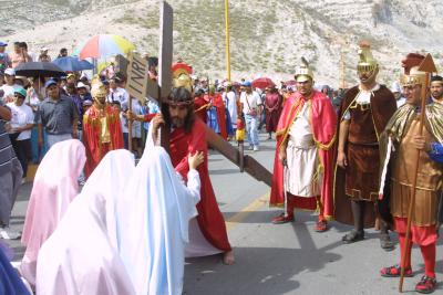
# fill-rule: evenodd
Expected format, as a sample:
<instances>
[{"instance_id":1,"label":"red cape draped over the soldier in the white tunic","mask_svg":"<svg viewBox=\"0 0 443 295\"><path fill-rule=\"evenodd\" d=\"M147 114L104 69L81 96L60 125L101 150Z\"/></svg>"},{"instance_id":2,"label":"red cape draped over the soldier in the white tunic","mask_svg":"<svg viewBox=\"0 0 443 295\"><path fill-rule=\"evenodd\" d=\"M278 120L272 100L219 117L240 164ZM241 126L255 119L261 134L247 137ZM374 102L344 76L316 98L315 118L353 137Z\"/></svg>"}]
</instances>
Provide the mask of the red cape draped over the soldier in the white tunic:
<instances>
[{"instance_id":1,"label":"red cape draped over the soldier in the white tunic","mask_svg":"<svg viewBox=\"0 0 443 295\"><path fill-rule=\"evenodd\" d=\"M285 203L284 194L284 167L278 159L278 150L289 135L289 128L301 110L305 103L311 104L311 124L313 140L319 148L320 162L323 171L323 181L321 188L321 203L324 210L324 217L333 215L333 144L336 141L337 114L329 98L324 94L315 91L312 98L306 101L299 93L295 93L285 102L280 119L277 126L277 148L274 160L272 187L270 191L270 206L282 206Z\"/></svg>"}]
</instances>

